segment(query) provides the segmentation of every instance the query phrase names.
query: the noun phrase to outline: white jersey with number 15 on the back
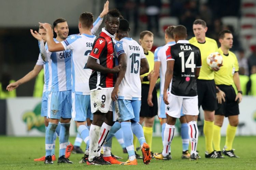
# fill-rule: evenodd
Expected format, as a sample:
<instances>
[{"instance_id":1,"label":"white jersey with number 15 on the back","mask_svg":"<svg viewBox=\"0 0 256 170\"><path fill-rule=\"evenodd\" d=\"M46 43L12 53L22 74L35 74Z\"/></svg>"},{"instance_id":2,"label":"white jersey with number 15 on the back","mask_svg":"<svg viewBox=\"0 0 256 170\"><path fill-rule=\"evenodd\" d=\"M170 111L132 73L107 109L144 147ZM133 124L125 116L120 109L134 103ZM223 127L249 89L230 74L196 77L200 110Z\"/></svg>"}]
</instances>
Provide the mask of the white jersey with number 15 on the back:
<instances>
[{"instance_id":1,"label":"white jersey with number 15 on the back","mask_svg":"<svg viewBox=\"0 0 256 170\"><path fill-rule=\"evenodd\" d=\"M127 69L119 85L118 99L141 100L140 63L146 58L142 47L132 38L122 38L115 44L117 57L126 54Z\"/></svg>"}]
</instances>

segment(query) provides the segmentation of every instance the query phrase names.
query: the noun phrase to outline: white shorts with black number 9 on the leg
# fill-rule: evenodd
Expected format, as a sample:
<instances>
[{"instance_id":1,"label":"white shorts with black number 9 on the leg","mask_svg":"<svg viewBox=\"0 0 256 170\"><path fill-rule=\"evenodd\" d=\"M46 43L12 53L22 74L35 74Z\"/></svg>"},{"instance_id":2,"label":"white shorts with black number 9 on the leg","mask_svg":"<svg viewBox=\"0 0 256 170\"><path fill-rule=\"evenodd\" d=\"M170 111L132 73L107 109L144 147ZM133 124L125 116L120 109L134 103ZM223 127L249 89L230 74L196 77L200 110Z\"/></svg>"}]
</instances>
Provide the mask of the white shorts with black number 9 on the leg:
<instances>
[{"instance_id":1,"label":"white shorts with black number 9 on the leg","mask_svg":"<svg viewBox=\"0 0 256 170\"><path fill-rule=\"evenodd\" d=\"M113 103L111 99L111 93L113 89L100 89L90 92L91 98L91 113L97 111L101 113L108 113L113 111Z\"/></svg>"}]
</instances>

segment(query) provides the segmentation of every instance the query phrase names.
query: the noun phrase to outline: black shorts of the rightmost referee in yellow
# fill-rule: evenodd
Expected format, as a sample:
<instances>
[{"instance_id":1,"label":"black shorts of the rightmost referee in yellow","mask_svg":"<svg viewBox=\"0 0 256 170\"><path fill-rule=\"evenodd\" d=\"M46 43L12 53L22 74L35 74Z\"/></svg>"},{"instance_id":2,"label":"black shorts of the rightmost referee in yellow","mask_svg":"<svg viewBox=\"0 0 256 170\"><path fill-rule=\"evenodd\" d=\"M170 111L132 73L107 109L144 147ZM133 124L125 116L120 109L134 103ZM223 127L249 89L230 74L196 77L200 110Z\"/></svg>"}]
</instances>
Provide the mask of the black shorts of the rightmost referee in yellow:
<instances>
[{"instance_id":1,"label":"black shorts of the rightmost referee in yellow","mask_svg":"<svg viewBox=\"0 0 256 170\"><path fill-rule=\"evenodd\" d=\"M222 115L225 117L239 115L239 106L235 101L236 92L232 86L228 85L217 85L219 89L224 91L226 97L225 102L222 101L222 104L217 104L218 108L215 111L215 115Z\"/></svg>"}]
</instances>

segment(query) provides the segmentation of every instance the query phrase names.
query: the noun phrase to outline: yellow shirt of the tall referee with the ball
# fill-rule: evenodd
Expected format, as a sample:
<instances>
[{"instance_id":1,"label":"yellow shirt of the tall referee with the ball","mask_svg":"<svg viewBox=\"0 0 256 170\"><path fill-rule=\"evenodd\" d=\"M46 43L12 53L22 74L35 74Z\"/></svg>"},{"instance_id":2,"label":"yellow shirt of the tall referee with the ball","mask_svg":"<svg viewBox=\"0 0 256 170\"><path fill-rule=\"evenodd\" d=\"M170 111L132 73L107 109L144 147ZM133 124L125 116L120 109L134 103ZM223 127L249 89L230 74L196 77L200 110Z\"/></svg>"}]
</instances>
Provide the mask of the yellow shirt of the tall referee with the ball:
<instances>
[{"instance_id":1,"label":"yellow shirt of the tall referee with the ball","mask_svg":"<svg viewBox=\"0 0 256 170\"><path fill-rule=\"evenodd\" d=\"M211 67L208 66L206 59L209 54L216 52L218 50L216 41L212 38L205 37L205 42L199 43L196 37L193 37L189 40L189 43L198 47L201 52L202 67L200 69L198 79L213 80L214 71L211 69Z\"/></svg>"}]
</instances>

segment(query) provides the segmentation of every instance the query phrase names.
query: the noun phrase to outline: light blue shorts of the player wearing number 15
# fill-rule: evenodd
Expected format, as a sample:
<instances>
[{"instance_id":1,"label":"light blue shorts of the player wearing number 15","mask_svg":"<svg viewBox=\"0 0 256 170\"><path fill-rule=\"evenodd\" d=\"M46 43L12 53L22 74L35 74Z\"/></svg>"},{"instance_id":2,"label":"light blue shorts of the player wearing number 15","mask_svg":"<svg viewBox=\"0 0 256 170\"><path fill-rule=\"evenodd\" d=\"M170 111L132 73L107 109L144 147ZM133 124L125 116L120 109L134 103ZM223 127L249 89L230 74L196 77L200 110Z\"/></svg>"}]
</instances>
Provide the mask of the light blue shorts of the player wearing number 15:
<instances>
[{"instance_id":1,"label":"light blue shorts of the player wearing number 15","mask_svg":"<svg viewBox=\"0 0 256 170\"><path fill-rule=\"evenodd\" d=\"M119 121L133 120L140 121L141 100L124 100L118 99Z\"/></svg>"}]
</instances>

